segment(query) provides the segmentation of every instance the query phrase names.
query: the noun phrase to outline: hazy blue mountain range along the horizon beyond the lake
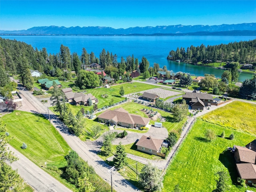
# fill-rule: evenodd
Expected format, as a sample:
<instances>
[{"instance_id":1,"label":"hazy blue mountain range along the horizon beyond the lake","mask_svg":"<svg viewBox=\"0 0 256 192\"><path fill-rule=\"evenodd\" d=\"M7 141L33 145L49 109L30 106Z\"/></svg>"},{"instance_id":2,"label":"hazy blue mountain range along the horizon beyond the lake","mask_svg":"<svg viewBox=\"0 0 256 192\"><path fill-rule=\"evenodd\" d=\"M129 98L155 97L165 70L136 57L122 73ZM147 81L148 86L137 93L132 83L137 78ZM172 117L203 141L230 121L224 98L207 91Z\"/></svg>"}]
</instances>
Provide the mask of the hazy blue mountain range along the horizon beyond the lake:
<instances>
[{"instance_id":1,"label":"hazy blue mountain range along the horizon beyond the lake","mask_svg":"<svg viewBox=\"0 0 256 192\"><path fill-rule=\"evenodd\" d=\"M64 27L41 26L27 30L0 30L1 35L243 35L256 36L256 23L222 24L222 25L170 25L130 27L127 29L100 26Z\"/></svg>"}]
</instances>

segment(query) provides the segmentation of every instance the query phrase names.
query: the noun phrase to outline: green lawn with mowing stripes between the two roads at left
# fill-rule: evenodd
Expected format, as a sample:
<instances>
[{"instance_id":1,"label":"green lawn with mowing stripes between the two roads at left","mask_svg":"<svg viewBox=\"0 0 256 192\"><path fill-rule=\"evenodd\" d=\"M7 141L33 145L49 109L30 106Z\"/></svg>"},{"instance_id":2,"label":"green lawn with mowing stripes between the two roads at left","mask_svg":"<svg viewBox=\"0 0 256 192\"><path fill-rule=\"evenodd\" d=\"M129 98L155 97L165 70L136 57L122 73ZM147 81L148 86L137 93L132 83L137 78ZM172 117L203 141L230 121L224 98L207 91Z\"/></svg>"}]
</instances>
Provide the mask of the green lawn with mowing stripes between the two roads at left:
<instances>
[{"instance_id":1,"label":"green lawn with mowing stripes between the two roads at left","mask_svg":"<svg viewBox=\"0 0 256 192\"><path fill-rule=\"evenodd\" d=\"M54 126L50 125L50 122L42 115L14 111L2 116L2 121L6 123L10 137L14 137L10 140L10 145L37 166L45 166L44 162L47 162L48 167L63 168L66 166L64 156L71 149ZM28 146L25 150L21 148L23 142ZM60 177L60 174L46 168L43 168L43 170L68 188L76 191L75 186L66 182L65 179Z\"/></svg>"}]
</instances>

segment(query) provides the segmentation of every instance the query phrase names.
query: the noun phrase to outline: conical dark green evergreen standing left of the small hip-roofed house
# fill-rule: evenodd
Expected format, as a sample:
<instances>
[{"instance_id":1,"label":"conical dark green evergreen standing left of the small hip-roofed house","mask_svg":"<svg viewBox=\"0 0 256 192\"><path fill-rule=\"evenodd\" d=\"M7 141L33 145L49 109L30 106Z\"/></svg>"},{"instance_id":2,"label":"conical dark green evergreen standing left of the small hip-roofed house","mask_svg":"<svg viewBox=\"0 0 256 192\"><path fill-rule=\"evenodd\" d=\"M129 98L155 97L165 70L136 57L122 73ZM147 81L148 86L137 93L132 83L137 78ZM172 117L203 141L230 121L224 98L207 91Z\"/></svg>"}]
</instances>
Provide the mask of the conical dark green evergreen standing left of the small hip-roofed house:
<instances>
[{"instance_id":1,"label":"conical dark green evergreen standing left of the small hip-roofed house","mask_svg":"<svg viewBox=\"0 0 256 192\"><path fill-rule=\"evenodd\" d=\"M126 152L124 146L122 146L122 142L119 142L118 146L116 146L116 154L114 155L113 162L115 168L118 170L128 164Z\"/></svg>"}]
</instances>

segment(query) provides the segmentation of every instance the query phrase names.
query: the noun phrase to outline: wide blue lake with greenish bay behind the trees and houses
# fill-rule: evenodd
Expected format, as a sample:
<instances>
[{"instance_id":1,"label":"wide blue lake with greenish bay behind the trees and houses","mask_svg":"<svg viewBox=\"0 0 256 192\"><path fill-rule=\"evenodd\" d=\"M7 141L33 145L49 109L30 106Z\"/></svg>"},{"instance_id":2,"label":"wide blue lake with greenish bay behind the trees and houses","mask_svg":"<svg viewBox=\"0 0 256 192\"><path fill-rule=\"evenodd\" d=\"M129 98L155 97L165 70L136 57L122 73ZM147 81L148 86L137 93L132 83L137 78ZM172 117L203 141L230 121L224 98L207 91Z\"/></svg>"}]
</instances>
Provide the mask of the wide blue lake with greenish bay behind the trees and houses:
<instances>
[{"instance_id":1,"label":"wide blue lake with greenish bay behind the trees and houses","mask_svg":"<svg viewBox=\"0 0 256 192\"><path fill-rule=\"evenodd\" d=\"M166 59L170 50L176 50L177 47L200 46L201 44L218 45L228 44L230 42L239 42L254 40L256 36L1 36L2 38L16 39L18 41L31 44L39 50L46 48L48 53L56 54L60 52L60 45L68 46L70 52L77 52L81 55L82 48L88 53L94 52L99 57L104 48L121 57L134 55L141 60L142 56L150 62L150 66L158 63L160 67L167 66L168 70L174 72L182 71L196 76L203 76L205 73L214 74L221 77L223 70L212 67L194 66L192 64L178 63ZM252 78L252 74L241 72L239 81Z\"/></svg>"}]
</instances>

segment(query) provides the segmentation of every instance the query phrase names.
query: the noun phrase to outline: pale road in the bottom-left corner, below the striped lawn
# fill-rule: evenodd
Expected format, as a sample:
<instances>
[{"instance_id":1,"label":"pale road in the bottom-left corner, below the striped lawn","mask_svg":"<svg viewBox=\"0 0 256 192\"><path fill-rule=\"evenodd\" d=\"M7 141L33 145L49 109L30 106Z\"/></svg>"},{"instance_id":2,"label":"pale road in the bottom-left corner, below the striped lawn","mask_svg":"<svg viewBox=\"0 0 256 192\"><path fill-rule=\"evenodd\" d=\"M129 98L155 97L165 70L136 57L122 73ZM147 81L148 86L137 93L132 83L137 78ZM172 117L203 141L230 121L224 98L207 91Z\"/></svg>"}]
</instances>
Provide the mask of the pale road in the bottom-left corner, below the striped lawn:
<instances>
[{"instance_id":1,"label":"pale road in the bottom-left corner, below the striped lawn","mask_svg":"<svg viewBox=\"0 0 256 192\"><path fill-rule=\"evenodd\" d=\"M40 169L28 158L14 149L12 146L9 146L19 158L19 160L11 164L13 169L18 169L18 174L34 188L37 192L72 192L66 186L61 184L58 180L54 179L44 170Z\"/></svg>"}]
</instances>

